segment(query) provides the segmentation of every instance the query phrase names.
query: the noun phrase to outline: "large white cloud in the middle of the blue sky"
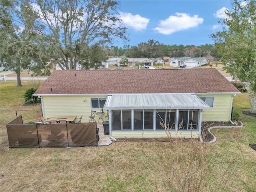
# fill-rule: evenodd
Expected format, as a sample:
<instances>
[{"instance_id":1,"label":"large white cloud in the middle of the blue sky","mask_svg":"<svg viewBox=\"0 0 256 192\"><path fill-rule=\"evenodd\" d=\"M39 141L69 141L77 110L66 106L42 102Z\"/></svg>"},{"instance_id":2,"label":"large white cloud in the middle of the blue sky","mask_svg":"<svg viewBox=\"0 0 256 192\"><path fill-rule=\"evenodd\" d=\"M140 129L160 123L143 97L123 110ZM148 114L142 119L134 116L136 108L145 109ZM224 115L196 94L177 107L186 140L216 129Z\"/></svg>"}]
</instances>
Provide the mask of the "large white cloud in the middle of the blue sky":
<instances>
[{"instance_id":1,"label":"large white cloud in the middle of the blue sky","mask_svg":"<svg viewBox=\"0 0 256 192\"><path fill-rule=\"evenodd\" d=\"M204 21L204 19L199 18L198 15L194 15L193 17L186 13L175 13L175 15L176 16L169 16L166 20L160 20L159 27L154 28L154 30L165 35L170 35L177 31L197 27Z\"/></svg>"}]
</instances>

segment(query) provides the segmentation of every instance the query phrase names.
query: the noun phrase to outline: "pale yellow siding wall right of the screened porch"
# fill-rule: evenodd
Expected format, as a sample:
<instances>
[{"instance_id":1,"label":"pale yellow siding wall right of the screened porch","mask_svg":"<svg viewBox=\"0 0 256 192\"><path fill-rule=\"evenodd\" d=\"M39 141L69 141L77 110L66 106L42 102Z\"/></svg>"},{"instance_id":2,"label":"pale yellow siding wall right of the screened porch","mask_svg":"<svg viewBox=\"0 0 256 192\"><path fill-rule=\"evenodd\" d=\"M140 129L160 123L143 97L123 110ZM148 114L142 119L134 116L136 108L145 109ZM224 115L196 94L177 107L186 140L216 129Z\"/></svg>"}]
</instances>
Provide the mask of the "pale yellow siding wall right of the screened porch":
<instances>
[{"instance_id":1,"label":"pale yellow siding wall right of the screened porch","mask_svg":"<svg viewBox=\"0 0 256 192\"><path fill-rule=\"evenodd\" d=\"M214 108L202 112L202 121L229 121L232 95L198 95L199 97L214 97Z\"/></svg>"}]
</instances>

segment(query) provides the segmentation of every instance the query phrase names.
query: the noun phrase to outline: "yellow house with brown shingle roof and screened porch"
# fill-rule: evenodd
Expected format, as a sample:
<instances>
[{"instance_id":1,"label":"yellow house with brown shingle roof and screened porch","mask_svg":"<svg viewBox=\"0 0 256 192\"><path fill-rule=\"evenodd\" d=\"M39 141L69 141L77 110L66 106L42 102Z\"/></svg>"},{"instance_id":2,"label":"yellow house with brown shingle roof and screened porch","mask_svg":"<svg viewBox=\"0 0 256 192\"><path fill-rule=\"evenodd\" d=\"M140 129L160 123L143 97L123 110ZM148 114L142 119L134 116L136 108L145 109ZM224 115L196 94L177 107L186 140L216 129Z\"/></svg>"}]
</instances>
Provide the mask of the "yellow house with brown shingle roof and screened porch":
<instances>
[{"instance_id":1,"label":"yellow house with brown shingle roof and screened porch","mask_svg":"<svg viewBox=\"0 0 256 192\"><path fill-rule=\"evenodd\" d=\"M236 94L220 72L207 68L55 70L34 96L41 98L44 118L83 116L89 122L91 110L103 108L114 138L166 137L160 122L172 126L172 137L200 138L202 121L230 121Z\"/></svg>"}]
</instances>

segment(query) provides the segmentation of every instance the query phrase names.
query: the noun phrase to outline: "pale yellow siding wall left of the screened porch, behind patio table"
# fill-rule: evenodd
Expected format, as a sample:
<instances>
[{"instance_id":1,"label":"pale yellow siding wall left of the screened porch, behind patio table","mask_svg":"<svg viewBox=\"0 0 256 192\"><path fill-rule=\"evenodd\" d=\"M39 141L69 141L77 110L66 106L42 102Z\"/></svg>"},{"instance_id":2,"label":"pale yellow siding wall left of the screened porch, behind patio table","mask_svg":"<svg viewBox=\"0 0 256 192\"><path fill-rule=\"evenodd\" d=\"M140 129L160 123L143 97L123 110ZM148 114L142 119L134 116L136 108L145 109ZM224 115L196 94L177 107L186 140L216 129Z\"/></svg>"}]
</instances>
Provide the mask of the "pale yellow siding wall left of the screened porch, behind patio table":
<instances>
[{"instance_id":1,"label":"pale yellow siding wall left of the screened porch, behind patio table","mask_svg":"<svg viewBox=\"0 0 256 192\"><path fill-rule=\"evenodd\" d=\"M48 96L43 97L44 118L52 116L82 117L82 122L89 122L91 110L100 112L100 109L91 109L91 98L106 98L107 96ZM84 102L86 99L86 102ZM106 114L106 111L104 111ZM103 115L103 119L105 120ZM98 120L96 115L95 120Z\"/></svg>"}]
</instances>

